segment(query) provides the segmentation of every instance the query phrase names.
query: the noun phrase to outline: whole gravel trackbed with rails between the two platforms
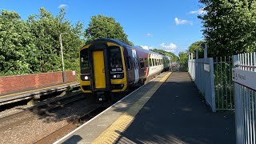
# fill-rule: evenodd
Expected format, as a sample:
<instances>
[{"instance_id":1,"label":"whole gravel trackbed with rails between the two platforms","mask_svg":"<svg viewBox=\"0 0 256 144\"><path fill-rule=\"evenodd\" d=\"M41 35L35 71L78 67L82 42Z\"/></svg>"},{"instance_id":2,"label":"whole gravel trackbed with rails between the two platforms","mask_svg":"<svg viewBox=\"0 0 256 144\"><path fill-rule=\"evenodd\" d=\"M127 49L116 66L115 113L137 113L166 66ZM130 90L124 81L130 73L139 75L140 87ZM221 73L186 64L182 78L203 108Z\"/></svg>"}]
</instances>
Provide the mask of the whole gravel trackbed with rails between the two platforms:
<instances>
[{"instance_id":1,"label":"whole gravel trackbed with rails between the two platforms","mask_svg":"<svg viewBox=\"0 0 256 144\"><path fill-rule=\"evenodd\" d=\"M12 136L3 142L53 143L110 106L110 103L90 103L90 98L79 94L55 98L0 118L0 137L21 134L19 140Z\"/></svg>"}]
</instances>

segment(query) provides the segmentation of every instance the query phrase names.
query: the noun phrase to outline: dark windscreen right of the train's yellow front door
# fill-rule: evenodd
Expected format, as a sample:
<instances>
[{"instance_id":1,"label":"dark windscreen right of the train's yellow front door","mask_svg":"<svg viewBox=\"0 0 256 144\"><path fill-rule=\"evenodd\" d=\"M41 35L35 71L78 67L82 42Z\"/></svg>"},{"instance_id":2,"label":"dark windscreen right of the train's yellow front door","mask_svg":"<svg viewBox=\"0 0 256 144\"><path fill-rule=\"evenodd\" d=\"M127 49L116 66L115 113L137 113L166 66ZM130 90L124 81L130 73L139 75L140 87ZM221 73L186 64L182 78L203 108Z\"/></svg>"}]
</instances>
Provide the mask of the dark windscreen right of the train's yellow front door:
<instances>
[{"instance_id":1,"label":"dark windscreen right of the train's yellow front door","mask_svg":"<svg viewBox=\"0 0 256 144\"><path fill-rule=\"evenodd\" d=\"M122 55L121 50L118 46L110 46L110 68L122 69Z\"/></svg>"}]
</instances>

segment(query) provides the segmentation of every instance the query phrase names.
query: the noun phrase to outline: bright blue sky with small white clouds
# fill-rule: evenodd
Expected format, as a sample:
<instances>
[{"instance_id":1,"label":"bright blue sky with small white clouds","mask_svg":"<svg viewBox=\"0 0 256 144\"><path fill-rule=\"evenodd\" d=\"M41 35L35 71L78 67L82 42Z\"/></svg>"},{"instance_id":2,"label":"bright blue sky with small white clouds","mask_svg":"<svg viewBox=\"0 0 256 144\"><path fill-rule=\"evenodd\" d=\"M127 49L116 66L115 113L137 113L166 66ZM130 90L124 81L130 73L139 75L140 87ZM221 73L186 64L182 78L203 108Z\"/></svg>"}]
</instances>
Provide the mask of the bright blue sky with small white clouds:
<instances>
[{"instance_id":1,"label":"bright blue sky with small white clouds","mask_svg":"<svg viewBox=\"0 0 256 144\"><path fill-rule=\"evenodd\" d=\"M51 14L66 10L66 19L85 29L97 14L115 18L135 46L162 49L178 55L202 40L198 0L0 0L0 10L16 11L22 19L45 7Z\"/></svg>"}]
</instances>

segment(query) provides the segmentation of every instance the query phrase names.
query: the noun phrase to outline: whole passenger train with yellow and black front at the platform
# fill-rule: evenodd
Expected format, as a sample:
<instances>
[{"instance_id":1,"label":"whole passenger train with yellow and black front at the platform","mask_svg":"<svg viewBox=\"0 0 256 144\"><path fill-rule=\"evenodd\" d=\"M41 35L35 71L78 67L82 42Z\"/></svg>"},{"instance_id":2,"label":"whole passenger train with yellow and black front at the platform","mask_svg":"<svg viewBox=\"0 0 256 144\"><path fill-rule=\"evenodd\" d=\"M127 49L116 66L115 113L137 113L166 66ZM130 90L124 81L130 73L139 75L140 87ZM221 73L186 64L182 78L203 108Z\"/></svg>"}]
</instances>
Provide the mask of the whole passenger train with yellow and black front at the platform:
<instances>
[{"instance_id":1,"label":"whole passenger train with yellow and black front at the platform","mask_svg":"<svg viewBox=\"0 0 256 144\"><path fill-rule=\"evenodd\" d=\"M79 50L79 58L81 90L98 101L143 85L162 71L170 70L172 62L169 56L110 38L87 42Z\"/></svg>"}]
</instances>

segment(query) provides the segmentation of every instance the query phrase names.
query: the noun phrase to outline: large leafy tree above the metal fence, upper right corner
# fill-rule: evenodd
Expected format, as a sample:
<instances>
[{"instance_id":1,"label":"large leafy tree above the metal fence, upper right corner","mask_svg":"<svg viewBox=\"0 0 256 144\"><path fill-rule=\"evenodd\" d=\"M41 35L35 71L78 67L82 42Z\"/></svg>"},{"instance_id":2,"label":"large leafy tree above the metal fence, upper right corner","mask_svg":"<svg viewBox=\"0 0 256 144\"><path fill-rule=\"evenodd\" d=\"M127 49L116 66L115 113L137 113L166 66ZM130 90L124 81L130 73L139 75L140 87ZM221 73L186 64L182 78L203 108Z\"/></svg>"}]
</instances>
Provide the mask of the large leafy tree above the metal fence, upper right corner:
<instances>
[{"instance_id":1,"label":"large leafy tree above the metal fence, upper right corner","mask_svg":"<svg viewBox=\"0 0 256 144\"><path fill-rule=\"evenodd\" d=\"M200 0L206 14L203 35L212 56L251 52L256 49L255 0Z\"/></svg>"}]
</instances>

